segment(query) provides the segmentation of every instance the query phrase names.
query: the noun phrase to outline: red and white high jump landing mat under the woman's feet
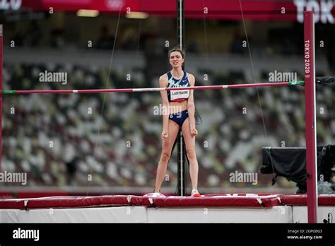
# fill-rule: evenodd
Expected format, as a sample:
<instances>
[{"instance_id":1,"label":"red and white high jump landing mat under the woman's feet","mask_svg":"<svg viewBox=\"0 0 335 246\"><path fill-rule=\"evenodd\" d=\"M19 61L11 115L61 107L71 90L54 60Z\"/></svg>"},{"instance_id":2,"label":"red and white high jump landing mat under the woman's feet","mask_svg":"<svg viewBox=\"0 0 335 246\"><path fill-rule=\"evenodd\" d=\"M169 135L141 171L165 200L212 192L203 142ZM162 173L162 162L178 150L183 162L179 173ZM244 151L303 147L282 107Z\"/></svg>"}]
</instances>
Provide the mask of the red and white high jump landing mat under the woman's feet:
<instances>
[{"instance_id":1,"label":"red and white high jump landing mat under the woman's feet","mask_svg":"<svg viewBox=\"0 0 335 246\"><path fill-rule=\"evenodd\" d=\"M335 195L319 195L318 222L334 223ZM331 216L329 216L329 214ZM307 223L304 194L201 197L41 197L0 200L0 223Z\"/></svg>"}]
</instances>

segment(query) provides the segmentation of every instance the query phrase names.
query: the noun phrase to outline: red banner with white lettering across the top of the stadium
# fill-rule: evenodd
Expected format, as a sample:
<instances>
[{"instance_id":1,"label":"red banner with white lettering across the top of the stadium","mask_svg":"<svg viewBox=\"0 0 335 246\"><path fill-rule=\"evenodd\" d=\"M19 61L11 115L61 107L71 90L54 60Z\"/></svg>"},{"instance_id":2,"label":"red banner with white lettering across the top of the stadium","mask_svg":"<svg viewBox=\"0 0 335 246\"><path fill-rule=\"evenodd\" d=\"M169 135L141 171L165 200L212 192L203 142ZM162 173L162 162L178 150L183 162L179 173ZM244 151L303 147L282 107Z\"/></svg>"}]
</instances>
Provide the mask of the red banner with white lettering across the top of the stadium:
<instances>
[{"instance_id":1,"label":"red banner with white lettering across the top of the stadium","mask_svg":"<svg viewBox=\"0 0 335 246\"><path fill-rule=\"evenodd\" d=\"M315 13L315 23L335 23L335 2L333 0L184 0L185 18L217 18L256 21L298 21L303 22L303 11ZM152 16L176 17L176 0L0 0L0 9L18 10L78 11L94 9L107 13L122 14L142 11Z\"/></svg>"}]
</instances>

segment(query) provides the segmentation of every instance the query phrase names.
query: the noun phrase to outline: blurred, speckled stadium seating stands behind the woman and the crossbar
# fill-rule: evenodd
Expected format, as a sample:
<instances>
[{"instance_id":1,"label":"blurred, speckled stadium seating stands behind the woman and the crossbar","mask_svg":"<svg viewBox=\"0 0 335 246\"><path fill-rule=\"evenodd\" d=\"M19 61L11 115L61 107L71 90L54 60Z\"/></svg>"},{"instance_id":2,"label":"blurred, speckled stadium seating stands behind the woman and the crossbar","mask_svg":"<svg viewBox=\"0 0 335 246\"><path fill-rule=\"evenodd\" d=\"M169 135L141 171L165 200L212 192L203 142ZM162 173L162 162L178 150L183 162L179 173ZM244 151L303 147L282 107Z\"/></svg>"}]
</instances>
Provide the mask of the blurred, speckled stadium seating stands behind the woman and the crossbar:
<instances>
[{"instance_id":1,"label":"blurred, speckled stadium seating stands behind the woman and the crossbar","mask_svg":"<svg viewBox=\"0 0 335 246\"><path fill-rule=\"evenodd\" d=\"M64 71L66 85L39 81L40 72ZM134 74L125 81L125 74ZM247 83L244 71L210 71L197 84ZM261 82L268 82L264 71ZM5 90L143 87L143 72L94 66L15 64L4 66ZM299 78L298 78L299 80ZM109 83L106 85L106 81ZM157 87L157 84L151 84ZM334 144L335 88L317 86L317 142ZM258 172L261 147L305 146L302 86L197 90L196 154L199 187L270 187L230 182L230 173ZM3 99L2 170L28 172L29 186L154 187L160 158L159 93L6 95ZM177 151L163 186L177 184ZM294 184L281 180L281 187Z\"/></svg>"}]
</instances>

